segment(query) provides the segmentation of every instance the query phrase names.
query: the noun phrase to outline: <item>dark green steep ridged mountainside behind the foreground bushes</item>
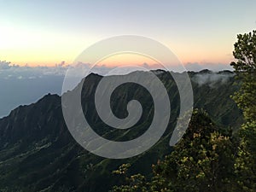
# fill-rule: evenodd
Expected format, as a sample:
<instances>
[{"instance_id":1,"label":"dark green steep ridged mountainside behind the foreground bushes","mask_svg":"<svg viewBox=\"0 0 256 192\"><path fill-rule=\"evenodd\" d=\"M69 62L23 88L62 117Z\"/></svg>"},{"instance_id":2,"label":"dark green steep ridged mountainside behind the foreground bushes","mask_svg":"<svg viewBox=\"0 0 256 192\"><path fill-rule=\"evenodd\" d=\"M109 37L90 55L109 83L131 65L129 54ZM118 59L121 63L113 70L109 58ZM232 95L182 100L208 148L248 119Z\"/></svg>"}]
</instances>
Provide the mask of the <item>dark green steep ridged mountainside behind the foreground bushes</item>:
<instances>
[{"instance_id":1,"label":"dark green steep ridged mountainside behind the foreground bushes","mask_svg":"<svg viewBox=\"0 0 256 192\"><path fill-rule=\"evenodd\" d=\"M161 71L157 75L170 95L170 123L154 148L131 159L103 159L81 148L67 130L61 97L57 95L47 95L36 103L20 106L0 119L0 190L108 191L113 183L119 182L111 172L125 162L132 164L131 172L148 173L151 164L171 151L168 142L179 110L179 96L172 77ZM241 124L241 112L230 99L237 89L232 86L233 73L202 71L189 73L189 76L195 108L205 109L218 125L236 129ZM141 135L154 115L154 105L147 90L137 84L125 84L113 92L111 107L119 118L127 115L126 104L131 99L141 102L144 109L139 123L130 131L115 131L96 113L94 93L101 79L99 75L90 74L84 80L82 106L86 119L102 137L121 141Z\"/></svg>"}]
</instances>

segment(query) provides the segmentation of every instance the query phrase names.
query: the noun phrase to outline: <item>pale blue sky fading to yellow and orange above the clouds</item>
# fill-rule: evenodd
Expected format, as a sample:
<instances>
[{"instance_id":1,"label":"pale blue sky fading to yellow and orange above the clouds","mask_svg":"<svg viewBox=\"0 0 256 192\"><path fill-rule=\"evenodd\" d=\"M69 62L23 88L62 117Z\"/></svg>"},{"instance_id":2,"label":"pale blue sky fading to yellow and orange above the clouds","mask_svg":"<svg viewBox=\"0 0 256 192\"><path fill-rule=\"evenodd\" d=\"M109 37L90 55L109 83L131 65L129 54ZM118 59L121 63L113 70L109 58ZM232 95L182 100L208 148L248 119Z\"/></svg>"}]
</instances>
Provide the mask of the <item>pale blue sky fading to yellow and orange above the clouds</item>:
<instances>
[{"instance_id":1,"label":"pale blue sky fading to yellow and orange above the clouds","mask_svg":"<svg viewBox=\"0 0 256 192\"><path fill-rule=\"evenodd\" d=\"M236 35L256 29L255 8L255 0L0 0L0 61L69 64L91 44L132 34L165 44L187 66L229 65Z\"/></svg>"}]
</instances>

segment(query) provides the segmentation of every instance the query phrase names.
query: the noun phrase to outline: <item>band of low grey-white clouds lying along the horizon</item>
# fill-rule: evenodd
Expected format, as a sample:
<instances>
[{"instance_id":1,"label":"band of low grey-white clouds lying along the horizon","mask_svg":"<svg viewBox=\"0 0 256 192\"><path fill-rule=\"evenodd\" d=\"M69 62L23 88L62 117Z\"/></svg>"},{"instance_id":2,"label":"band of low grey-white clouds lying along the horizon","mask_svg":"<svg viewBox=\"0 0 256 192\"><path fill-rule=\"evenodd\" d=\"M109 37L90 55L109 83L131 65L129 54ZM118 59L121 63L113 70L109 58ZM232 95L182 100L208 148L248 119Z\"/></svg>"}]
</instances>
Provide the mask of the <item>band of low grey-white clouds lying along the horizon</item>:
<instances>
[{"instance_id":1,"label":"band of low grey-white clouds lying along the horizon","mask_svg":"<svg viewBox=\"0 0 256 192\"><path fill-rule=\"evenodd\" d=\"M145 70L156 70L161 68L160 65L149 66L147 63L143 63L142 65L138 65L139 67L145 68ZM230 70L233 68L228 64L214 64L214 63L187 63L184 66L188 71L199 72L203 69L209 69L213 72L222 71L222 70ZM132 67L131 67L132 68ZM70 66L62 61L59 64L56 64L54 67L30 67L30 66L19 66L15 64L11 64L8 61L0 61L0 79L38 79L43 78L45 76L65 76L67 73L67 69L73 71L73 76L80 76L81 74L85 74L84 72L90 73L98 73L100 75L107 75L110 71L115 69L115 67L108 67L105 65L94 66L91 68L91 65L88 63L78 63L75 66ZM136 70L137 67L134 67ZM130 72L131 70L128 70ZM20 78L21 77L21 78Z\"/></svg>"}]
</instances>

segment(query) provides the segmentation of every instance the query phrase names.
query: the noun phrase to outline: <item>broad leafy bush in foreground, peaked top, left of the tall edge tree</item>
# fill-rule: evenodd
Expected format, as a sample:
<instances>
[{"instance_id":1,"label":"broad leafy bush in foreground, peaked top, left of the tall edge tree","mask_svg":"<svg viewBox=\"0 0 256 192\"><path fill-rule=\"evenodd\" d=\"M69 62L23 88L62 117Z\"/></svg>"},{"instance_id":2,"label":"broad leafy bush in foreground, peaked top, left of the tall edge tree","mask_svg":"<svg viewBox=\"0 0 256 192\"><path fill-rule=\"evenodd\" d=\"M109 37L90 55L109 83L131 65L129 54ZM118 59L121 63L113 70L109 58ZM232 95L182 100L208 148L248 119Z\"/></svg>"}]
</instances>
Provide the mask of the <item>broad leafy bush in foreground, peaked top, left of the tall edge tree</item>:
<instances>
[{"instance_id":1,"label":"broad leafy bush in foreground, peaked top, left of the tall edge tree","mask_svg":"<svg viewBox=\"0 0 256 192\"><path fill-rule=\"evenodd\" d=\"M223 135L205 112L195 110L172 154L153 166L154 177L147 182L140 174L126 176L113 191L230 191L234 149L230 135Z\"/></svg>"}]
</instances>

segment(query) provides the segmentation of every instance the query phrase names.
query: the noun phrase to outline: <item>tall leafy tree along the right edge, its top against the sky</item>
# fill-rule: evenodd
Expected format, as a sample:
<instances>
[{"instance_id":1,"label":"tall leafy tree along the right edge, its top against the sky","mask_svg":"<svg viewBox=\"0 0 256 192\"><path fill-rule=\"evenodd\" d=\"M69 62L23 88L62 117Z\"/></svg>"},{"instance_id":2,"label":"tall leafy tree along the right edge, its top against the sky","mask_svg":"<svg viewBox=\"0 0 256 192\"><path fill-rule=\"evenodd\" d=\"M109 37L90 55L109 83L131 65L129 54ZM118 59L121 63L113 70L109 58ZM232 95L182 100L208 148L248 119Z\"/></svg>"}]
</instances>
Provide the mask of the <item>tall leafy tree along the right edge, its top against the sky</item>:
<instances>
[{"instance_id":1,"label":"tall leafy tree along the right edge, its top against the sky","mask_svg":"<svg viewBox=\"0 0 256 192\"><path fill-rule=\"evenodd\" d=\"M232 98L243 111L236 158L237 184L242 191L256 191L256 31L239 34L231 62L241 87Z\"/></svg>"}]
</instances>

